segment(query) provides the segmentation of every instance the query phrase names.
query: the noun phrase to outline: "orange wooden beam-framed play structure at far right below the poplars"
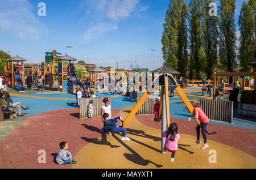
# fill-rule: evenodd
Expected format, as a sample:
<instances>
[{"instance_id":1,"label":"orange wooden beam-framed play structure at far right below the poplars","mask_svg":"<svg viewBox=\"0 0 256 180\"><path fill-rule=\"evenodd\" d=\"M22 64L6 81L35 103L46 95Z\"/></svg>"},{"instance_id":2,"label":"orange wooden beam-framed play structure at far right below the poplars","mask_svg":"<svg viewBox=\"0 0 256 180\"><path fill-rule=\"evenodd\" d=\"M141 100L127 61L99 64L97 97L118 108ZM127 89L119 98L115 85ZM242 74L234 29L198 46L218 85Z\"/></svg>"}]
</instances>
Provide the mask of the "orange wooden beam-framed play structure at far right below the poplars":
<instances>
[{"instance_id":1,"label":"orange wooden beam-framed play structure at far right below the poplars","mask_svg":"<svg viewBox=\"0 0 256 180\"><path fill-rule=\"evenodd\" d=\"M237 78L241 78L242 79L242 84L240 84L240 88L242 91L245 90L250 90L250 87L246 87L246 80L245 77L246 76L250 76L253 77L255 79L256 77L256 72L214 72L213 73L213 99L215 98L215 93L216 93L216 88L220 87L222 85L223 88L223 95L227 92L225 92L226 90L231 90L232 88L228 88L226 89L226 87L232 87L233 83L236 82ZM220 82L220 77L221 79L224 79L224 77L228 78L228 83ZM232 78L232 84L230 84L230 77ZM218 78L218 80L216 80L216 78ZM226 89L226 90L225 90ZM254 83L254 89L256 89L256 83Z\"/></svg>"}]
</instances>

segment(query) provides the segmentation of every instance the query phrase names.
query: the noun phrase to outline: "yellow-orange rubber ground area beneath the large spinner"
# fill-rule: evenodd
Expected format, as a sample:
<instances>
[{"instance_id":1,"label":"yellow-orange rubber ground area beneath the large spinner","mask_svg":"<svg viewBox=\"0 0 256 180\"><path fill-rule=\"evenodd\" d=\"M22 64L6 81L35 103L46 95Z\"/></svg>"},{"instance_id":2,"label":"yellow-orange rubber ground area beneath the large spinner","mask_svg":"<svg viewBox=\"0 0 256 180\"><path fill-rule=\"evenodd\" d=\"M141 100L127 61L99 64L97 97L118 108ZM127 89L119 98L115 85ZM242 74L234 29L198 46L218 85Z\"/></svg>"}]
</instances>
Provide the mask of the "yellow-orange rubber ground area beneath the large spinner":
<instances>
[{"instance_id":1,"label":"yellow-orange rubber ground area beneath the large spinner","mask_svg":"<svg viewBox=\"0 0 256 180\"><path fill-rule=\"evenodd\" d=\"M129 106L122 109L120 115L126 117L132 108L133 106ZM72 168L256 168L256 158L245 152L212 140L208 140L208 148L200 149L203 144L192 145L196 137L186 134L180 134L179 149L176 151L174 162L171 162L171 152L160 152L160 135L159 129L144 126L133 117L127 126L130 141L122 141L121 134L99 138L77 153L77 164L72 165Z\"/></svg>"}]
</instances>

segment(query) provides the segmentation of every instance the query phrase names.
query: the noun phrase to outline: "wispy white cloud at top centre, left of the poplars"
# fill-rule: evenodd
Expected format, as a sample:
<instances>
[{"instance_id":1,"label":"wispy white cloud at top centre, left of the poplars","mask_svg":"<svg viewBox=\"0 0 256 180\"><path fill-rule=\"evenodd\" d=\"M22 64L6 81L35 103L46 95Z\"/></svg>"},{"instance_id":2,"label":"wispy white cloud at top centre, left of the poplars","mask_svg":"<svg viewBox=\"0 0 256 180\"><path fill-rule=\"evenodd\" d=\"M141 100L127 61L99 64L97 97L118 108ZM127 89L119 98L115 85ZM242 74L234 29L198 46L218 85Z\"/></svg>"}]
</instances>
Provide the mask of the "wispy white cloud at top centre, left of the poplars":
<instances>
[{"instance_id":1,"label":"wispy white cloud at top centre, left of the poplars","mask_svg":"<svg viewBox=\"0 0 256 180\"><path fill-rule=\"evenodd\" d=\"M120 20L129 18L138 3L139 0L85 0L81 5L85 15L80 22L89 18L92 25L86 29L82 42L89 42L117 29Z\"/></svg>"}]
</instances>

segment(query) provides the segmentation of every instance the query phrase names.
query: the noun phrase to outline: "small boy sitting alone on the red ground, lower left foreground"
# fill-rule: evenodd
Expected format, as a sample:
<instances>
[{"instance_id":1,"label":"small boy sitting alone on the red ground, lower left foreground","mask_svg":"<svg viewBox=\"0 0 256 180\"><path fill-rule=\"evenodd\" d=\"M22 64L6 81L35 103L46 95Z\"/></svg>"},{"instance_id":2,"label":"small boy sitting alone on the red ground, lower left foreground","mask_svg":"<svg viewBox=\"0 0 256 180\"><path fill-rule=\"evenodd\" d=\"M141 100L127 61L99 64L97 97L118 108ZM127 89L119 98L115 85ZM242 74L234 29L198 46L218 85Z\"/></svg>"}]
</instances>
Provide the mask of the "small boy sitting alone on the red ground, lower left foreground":
<instances>
[{"instance_id":1,"label":"small boy sitting alone on the red ground, lower left foreground","mask_svg":"<svg viewBox=\"0 0 256 180\"><path fill-rule=\"evenodd\" d=\"M68 143L61 142L60 151L56 157L57 164L59 165L70 164L70 163L76 164L77 161L73 159L72 154L67 149L68 149Z\"/></svg>"}]
</instances>

